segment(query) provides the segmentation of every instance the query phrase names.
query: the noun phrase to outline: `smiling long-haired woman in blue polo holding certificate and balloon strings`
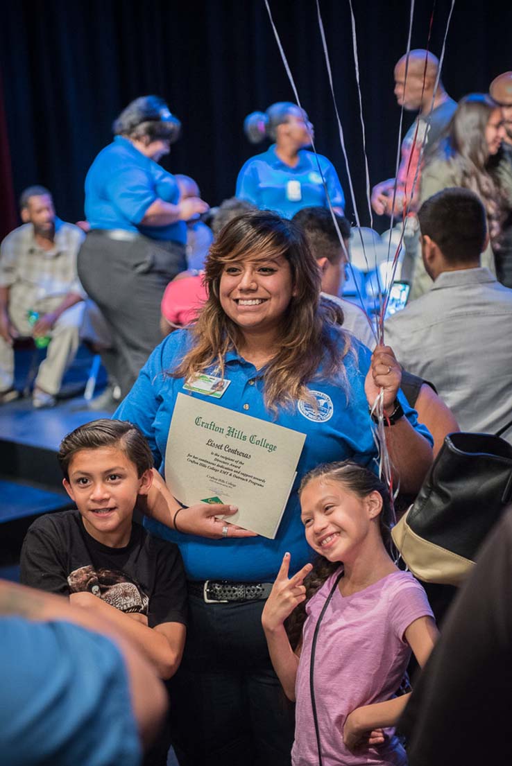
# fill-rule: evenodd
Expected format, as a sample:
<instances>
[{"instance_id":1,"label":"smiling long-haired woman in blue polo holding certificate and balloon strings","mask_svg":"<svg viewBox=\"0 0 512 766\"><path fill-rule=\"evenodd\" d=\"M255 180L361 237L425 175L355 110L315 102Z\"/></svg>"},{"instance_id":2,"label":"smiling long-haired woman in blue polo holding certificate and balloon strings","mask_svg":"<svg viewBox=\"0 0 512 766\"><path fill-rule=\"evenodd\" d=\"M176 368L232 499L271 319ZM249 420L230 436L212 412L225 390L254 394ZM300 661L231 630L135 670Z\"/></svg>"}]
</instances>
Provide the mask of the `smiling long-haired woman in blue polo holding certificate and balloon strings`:
<instances>
[{"instance_id":1,"label":"smiling long-haired woman in blue polo holding certificate and balloon strings","mask_svg":"<svg viewBox=\"0 0 512 766\"><path fill-rule=\"evenodd\" d=\"M210 249L205 283L208 300L198 321L155 349L115 417L143 430L161 472L180 392L306 435L275 539L217 519L234 512L229 506L181 509L158 474L146 519L149 529L179 544L189 578L190 628L172 681L183 762L286 766L293 711L271 666L261 611L284 552L297 569L313 557L297 486L321 462L353 458L376 467L369 402L380 387L386 411L395 412L386 431L404 491L422 483L432 462L430 437L399 391L401 369L391 349L370 358L336 323L338 309L320 301L316 261L293 222L267 211L235 218ZM184 389L202 372L229 381L221 398ZM403 412L395 411L397 400Z\"/></svg>"}]
</instances>

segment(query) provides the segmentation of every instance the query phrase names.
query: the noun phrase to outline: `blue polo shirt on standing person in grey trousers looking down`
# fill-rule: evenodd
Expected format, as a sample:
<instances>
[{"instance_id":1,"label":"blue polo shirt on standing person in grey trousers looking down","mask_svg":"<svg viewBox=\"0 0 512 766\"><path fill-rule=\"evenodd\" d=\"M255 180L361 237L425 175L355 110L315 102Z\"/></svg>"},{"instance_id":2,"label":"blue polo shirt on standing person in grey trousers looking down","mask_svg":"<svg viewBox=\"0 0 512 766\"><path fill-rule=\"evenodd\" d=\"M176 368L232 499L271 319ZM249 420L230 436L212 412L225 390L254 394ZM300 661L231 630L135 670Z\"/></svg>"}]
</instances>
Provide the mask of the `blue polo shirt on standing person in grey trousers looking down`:
<instances>
[{"instance_id":1,"label":"blue polo shirt on standing person in grey trousers looking down","mask_svg":"<svg viewBox=\"0 0 512 766\"><path fill-rule=\"evenodd\" d=\"M85 215L90 228L138 231L151 239L185 244L185 221L167 226L140 225L156 198L176 205L176 179L131 141L116 136L97 155L85 178Z\"/></svg>"}]
</instances>

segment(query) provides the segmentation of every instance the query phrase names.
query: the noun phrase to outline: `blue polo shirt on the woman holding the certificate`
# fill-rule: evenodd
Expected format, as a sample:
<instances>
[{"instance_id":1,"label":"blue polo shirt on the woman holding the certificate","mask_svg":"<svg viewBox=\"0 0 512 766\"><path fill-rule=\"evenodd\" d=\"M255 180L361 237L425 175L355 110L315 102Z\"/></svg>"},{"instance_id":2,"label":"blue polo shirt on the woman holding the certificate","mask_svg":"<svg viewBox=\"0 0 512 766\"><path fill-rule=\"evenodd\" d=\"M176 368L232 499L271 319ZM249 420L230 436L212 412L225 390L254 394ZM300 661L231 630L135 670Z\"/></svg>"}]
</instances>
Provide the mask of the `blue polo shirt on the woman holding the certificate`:
<instances>
[{"instance_id":1,"label":"blue polo shirt on the woman holding the certificate","mask_svg":"<svg viewBox=\"0 0 512 766\"><path fill-rule=\"evenodd\" d=\"M225 356L225 378L231 383L220 399L185 391L182 378L166 374L176 368L189 349L190 336L189 330L178 330L157 346L113 417L130 421L143 431L153 451L155 465L162 474L172 412L180 392L228 410L259 417L262 421L277 423L306 434L297 479L274 540L264 537L208 540L181 535L152 519L145 519L145 525L156 535L179 544L187 575L193 580L273 581L285 552L291 553L294 570L314 557L300 522L297 488L304 474L318 463L348 458L376 469L376 445L364 393L371 354L366 346L352 339L353 352L345 357L348 397L342 385L320 375L309 386L317 399L318 410L300 401L290 408L278 408L274 417L264 406L261 371L258 372L234 350ZM336 338L341 355L344 336L336 332ZM213 368L209 372L215 374ZM416 413L401 391L399 399L406 417L432 444L428 430L417 424Z\"/></svg>"}]
</instances>

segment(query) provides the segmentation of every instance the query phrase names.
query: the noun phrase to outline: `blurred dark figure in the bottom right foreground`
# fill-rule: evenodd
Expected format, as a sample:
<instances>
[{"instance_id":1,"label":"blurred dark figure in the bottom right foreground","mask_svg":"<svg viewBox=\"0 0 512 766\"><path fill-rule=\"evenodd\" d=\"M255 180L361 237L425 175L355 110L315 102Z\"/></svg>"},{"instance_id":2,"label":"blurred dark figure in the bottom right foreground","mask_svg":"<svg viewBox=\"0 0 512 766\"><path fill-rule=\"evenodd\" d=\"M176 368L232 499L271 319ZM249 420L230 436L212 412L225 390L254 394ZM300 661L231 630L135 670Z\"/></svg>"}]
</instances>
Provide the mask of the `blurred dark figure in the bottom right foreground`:
<instances>
[{"instance_id":1,"label":"blurred dark figure in the bottom right foreground","mask_svg":"<svg viewBox=\"0 0 512 766\"><path fill-rule=\"evenodd\" d=\"M512 760L512 509L478 553L399 720L409 766Z\"/></svg>"}]
</instances>

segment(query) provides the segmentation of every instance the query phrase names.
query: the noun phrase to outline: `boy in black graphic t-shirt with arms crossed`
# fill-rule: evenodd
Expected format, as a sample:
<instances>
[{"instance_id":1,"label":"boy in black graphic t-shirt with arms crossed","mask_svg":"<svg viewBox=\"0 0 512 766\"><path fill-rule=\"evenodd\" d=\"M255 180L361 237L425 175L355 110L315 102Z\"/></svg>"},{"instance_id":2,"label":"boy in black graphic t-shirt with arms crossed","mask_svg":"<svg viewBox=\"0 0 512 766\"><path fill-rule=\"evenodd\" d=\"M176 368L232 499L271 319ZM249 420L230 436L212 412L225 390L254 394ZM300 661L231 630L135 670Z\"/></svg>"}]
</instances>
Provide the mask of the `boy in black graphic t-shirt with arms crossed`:
<instances>
[{"instance_id":1,"label":"boy in black graphic t-shirt with arms crossed","mask_svg":"<svg viewBox=\"0 0 512 766\"><path fill-rule=\"evenodd\" d=\"M58 458L78 510L31 525L21 582L108 615L170 678L185 644L185 571L177 545L133 522L153 478L146 439L131 423L92 421L64 438Z\"/></svg>"}]
</instances>

